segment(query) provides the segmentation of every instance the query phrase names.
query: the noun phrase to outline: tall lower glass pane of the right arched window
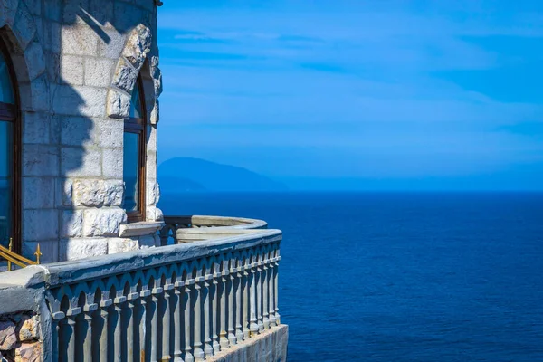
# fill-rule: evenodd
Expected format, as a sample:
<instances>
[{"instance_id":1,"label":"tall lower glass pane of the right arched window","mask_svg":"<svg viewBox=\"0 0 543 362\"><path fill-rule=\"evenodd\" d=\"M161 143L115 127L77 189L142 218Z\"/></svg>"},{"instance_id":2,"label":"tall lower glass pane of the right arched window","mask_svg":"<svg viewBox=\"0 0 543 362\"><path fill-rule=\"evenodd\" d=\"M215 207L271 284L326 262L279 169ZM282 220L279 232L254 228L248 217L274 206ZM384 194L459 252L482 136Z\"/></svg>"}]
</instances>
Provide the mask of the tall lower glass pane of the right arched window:
<instances>
[{"instance_id":1,"label":"tall lower glass pane of the right arched window","mask_svg":"<svg viewBox=\"0 0 543 362\"><path fill-rule=\"evenodd\" d=\"M127 211L138 211L139 207L139 135L125 132L124 167L125 202Z\"/></svg>"}]
</instances>

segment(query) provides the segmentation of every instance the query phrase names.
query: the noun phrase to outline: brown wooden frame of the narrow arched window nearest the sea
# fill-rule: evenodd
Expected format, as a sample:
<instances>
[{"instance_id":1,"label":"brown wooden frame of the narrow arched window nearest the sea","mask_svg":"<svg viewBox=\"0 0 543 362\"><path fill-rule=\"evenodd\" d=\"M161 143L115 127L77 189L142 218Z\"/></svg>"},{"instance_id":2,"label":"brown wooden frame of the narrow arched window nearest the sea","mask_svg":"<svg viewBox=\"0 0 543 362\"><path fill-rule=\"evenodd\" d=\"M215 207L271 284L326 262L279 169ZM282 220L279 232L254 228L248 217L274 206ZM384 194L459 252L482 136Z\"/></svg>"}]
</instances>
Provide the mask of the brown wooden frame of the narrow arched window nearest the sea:
<instances>
[{"instance_id":1,"label":"brown wooden frame of the narrow arched window nearest the sea","mask_svg":"<svg viewBox=\"0 0 543 362\"><path fill-rule=\"evenodd\" d=\"M146 220L146 176L147 176L147 108L145 105L145 94L143 90L143 80L138 75L137 86L139 89L139 104L141 107L140 118L129 117L125 119L124 131L139 135L139 157L138 157L138 210L128 211L127 217L129 223L138 223ZM125 190L126 191L126 190Z\"/></svg>"}]
</instances>

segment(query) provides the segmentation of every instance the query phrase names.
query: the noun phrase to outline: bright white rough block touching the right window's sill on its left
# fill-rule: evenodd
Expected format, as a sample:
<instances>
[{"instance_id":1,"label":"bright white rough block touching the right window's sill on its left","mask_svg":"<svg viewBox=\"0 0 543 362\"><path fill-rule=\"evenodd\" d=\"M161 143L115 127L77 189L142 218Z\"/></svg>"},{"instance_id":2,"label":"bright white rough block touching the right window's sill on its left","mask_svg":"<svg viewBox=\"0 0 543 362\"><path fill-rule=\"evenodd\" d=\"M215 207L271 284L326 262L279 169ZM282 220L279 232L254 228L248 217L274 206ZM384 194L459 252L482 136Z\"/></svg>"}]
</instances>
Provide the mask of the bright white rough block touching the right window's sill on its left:
<instances>
[{"instance_id":1,"label":"bright white rough block touching the right window's sill on its left","mask_svg":"<svg viewBox=\"0 0 543 362\"><path fill-rule=\"evenodd\" d=\"M119 225L127 222L127 214L122 209L85 210L83 216L83 235L117 236Z\"/></svg>"}]
</instances>

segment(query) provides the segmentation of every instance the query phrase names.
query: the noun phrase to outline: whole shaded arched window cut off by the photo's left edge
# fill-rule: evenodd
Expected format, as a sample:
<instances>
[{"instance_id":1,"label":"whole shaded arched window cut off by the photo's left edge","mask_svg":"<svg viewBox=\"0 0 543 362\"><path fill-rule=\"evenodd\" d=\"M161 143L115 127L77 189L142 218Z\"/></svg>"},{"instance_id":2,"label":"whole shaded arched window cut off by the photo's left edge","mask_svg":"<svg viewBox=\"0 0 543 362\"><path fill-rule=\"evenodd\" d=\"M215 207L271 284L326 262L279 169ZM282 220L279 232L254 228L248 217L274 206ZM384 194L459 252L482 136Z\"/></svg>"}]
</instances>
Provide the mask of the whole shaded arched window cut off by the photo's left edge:
<instances>
[{"instance_id":1,"label":"whole shaded arched window cut off by the photo's left edge","mask_svg":"<svg viewBox=\"0 0 543 362\"><path fill-rule=\"evenodd\" d=\"M9 54L0 39L0 244L14 241L14 252L21 252L18 121L15 79Z\"/></svg>"}]
</instances>

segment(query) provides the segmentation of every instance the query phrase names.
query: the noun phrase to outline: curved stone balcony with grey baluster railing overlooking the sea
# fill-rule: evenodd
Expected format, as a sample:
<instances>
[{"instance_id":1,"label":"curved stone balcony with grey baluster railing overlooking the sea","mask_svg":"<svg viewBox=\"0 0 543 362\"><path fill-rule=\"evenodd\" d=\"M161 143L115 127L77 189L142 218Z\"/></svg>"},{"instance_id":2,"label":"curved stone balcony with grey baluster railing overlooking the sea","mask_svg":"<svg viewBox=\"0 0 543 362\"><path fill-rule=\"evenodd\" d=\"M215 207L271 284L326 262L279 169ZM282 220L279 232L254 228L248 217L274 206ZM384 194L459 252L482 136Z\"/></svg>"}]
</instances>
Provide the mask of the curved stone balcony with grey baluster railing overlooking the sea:
<instances>
[{"instance_id":1,"label":"curved stone balcony with grey baluster railing overlooking the sea","mask_svg":"<svg viewBox=\"0 0 543 362\"><path fill-rule=\"evenodd\" d=\"M0 301L20 301L0 315L39 317L44 360L286 360L281 231L229 217L165 223L160 247L12 271Z\"/></svg>"}]
</instances>

